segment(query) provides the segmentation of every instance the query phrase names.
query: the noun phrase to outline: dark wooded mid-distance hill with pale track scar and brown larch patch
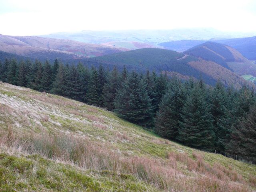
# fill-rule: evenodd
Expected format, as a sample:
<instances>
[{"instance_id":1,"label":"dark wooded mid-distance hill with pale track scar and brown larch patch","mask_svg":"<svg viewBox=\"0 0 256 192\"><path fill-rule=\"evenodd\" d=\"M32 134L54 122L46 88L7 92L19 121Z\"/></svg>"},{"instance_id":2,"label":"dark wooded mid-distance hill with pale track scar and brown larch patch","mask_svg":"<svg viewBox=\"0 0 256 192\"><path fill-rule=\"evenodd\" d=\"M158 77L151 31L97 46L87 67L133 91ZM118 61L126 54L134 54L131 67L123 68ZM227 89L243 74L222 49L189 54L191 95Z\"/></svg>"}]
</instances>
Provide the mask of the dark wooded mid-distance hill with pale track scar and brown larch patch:
<instances>
[{"instance_id":1,"label":"dark wooded mid-distance hill with pale track scar and brown larch patch","mask_svg":"<svg viewBox=\"0 0 256 192\"><path fill-rule=\"evenodd\" d=\"M210 63L205 60L198 59L194 56L186 56L176 51L157 48L120 52L89 58L83 60L83 62L94 66L98 66L100 63L109 67L116 65L120 69L126 66L128 70L140 72L145 72L146 70L176 72L183 79L187 79L187 76L199 79L202 76L204 81L209 85L214 85L218 79L221 79L225 85L232 84L236 88L239 88L245 82L243 78L218 64L213 64L209 67ZM195 66L193 62L196 62L197 65Z\"/></svg>"}]
</instances>

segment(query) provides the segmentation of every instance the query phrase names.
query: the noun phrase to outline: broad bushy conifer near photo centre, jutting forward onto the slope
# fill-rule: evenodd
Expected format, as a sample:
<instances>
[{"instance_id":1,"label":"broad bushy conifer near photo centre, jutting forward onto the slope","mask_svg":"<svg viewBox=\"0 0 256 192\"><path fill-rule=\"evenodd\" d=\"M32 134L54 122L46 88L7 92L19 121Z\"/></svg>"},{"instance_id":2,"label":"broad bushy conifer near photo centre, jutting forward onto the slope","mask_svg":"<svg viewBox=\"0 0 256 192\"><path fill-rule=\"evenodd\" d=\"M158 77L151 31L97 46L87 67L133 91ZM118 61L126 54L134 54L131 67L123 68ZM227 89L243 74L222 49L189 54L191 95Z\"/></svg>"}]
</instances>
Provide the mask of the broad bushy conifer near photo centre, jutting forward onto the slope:
<instances>
[{"instance_id":1,"label":"broad bushy conifer near photo centre, jutting forward onto the slope","mask_svg":"<svg viewBox=\"0 0 256 192\"><path fill-rule=\"evenodd\" d=\"M132 72L118 90L114 101L115 112L121 118L141 126L152 125L152 106L146 92L146 84L140 76Z\"/></svg>"}]
</instances>

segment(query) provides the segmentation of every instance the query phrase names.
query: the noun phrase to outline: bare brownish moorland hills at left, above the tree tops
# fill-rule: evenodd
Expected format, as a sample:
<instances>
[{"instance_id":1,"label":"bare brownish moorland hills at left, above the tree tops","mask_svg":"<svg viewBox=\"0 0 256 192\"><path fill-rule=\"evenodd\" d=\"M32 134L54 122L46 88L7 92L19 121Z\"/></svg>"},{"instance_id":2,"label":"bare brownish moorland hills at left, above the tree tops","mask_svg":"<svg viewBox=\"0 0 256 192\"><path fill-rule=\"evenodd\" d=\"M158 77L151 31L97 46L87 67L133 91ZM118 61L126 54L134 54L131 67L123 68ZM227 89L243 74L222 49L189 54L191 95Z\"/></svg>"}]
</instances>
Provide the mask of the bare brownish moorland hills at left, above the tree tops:
<instances>
[{"instance_id":1,"label":"bare brownish moorland hills at left, above the tree tops","mask_svg":"<svg viewBox=\"0 0 256 192\"><path fill-rule=\"evenodd\" d=\"M127 49L36 36L0 35L0 50L42 59L77 59L121 52Z\"/></svg>"}]
</instances>

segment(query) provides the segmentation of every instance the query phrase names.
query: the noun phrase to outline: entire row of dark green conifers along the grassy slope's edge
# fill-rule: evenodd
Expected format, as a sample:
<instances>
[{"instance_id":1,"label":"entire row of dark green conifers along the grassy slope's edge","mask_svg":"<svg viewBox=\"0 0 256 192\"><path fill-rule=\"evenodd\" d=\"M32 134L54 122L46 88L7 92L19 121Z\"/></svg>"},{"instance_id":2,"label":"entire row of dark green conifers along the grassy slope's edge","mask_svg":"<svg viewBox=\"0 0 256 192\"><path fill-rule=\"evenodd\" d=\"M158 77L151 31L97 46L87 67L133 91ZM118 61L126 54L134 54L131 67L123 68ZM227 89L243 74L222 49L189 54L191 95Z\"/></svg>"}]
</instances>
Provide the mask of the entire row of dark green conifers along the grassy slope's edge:
<instances>
[{"instance_id":1,"label":"entire row of dark green conifers along the grassy slope's edge","mask_svg":"<svg viewBox=\"0 0 256 192\"><path fill-rule=\"evenodd\" d=\"M182 81L166 73L70 66L57 59L5 59L0 81L100 106L164 138L256 163L256 95L248 85L237 90L218 81L212 87L202 78Z\"/></svg>"}]
</instances>

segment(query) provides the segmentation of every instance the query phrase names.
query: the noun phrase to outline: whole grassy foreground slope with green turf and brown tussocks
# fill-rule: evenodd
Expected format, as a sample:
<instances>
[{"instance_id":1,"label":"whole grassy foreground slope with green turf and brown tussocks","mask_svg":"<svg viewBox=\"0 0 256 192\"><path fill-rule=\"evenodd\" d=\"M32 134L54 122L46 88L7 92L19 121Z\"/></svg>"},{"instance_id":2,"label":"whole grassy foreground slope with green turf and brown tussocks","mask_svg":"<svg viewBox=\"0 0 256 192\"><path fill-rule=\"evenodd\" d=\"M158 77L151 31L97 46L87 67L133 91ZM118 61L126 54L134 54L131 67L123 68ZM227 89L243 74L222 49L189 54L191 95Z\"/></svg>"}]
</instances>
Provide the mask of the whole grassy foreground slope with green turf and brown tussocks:
<instances>
[{"instance_id":1,"label":"whole grassy foreground slope with green turf and brown tussocks","mask_svg":"<svg viewBox=\"0 0 256 192\"><path fill-rule=\"evenodd\" d=\"M3 168L9 191L256 190L255 165L159 138L100 108L5 83L0 84L1 152L6 157L0 158L0 174ZM33 163L24 172L14 166L20 157ZM44 161L51 166L42 168Z\"/></svg>"}]
</instances>

